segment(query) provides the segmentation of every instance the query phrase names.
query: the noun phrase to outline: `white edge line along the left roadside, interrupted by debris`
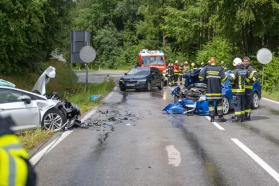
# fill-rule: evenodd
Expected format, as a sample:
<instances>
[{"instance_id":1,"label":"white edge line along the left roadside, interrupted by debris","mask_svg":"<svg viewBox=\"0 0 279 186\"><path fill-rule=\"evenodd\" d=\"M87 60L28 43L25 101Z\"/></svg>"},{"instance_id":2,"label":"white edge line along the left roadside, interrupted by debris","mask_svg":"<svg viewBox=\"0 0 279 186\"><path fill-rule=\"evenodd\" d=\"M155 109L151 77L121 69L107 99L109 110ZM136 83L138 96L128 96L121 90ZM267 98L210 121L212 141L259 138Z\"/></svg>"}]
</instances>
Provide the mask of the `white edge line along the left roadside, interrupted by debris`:
<instances>
[{"instance_id":1,"label":"white edge line along the left roadside, interrupted by debris","mask_svg":"<svg viewBox=\"0 0 279 186\"><path fill-rule=\"evenodd\" d=\"M114 90L116 90L116 87L114 87ZM110 98L112 96L113 92L110 92L105 98L104 100ZM92 109L88 114L86 114L86 116L84 116L82 118L82 122L86 121L86 119L88 119L89 117L91 117L96 111L98 110L98 106L95 107L95 109ZM50 150L52 150L55 146L57 146L63 139L65 139L66 137L68 137L68 135L70 135L70 133L72 133L73 130L69 130L66 132L63 132L61 134L61 137L56 138L54 141L52 141L52 143L50 143L48 146L46 146L45 148L43 148L43 150L40 150L40 152L36 153L36 155L33 155L33 157L31 157L30 162L32 164L32 166L38 164L38 162L40 162L40 160L43 158L44 155L46 155L47 153L50 152Z\"/></svg>"}]
</instances>

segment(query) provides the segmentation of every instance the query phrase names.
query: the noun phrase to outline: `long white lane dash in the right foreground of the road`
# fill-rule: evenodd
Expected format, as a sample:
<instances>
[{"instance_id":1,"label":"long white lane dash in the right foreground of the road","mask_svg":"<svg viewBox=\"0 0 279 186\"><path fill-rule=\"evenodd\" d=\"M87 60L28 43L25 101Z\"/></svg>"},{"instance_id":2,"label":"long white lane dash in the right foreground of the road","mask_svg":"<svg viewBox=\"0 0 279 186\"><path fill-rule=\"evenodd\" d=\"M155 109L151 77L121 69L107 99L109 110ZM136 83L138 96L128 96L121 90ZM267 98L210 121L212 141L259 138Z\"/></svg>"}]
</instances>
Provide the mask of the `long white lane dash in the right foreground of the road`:
<instances>
[{"instance_id":1,"label":"long white lane dash in the right foreground of the road","mask_svg":"<svg viewBox=\"0 0 279 186\"><path fill-rule=\"evenodd\" d=\"M238 139L232 139L234 143L239 146L244 152L246 152L250 157L252 157L255 162L257 162L262 168L268 172L276 181L279 183L279 173L277 173L274 169L269 166L269 164L266 164L264 160L262 160L259 156L257 156L255 153L252 152L247 146L241 143Z\"/></svg>"}]
</instances>

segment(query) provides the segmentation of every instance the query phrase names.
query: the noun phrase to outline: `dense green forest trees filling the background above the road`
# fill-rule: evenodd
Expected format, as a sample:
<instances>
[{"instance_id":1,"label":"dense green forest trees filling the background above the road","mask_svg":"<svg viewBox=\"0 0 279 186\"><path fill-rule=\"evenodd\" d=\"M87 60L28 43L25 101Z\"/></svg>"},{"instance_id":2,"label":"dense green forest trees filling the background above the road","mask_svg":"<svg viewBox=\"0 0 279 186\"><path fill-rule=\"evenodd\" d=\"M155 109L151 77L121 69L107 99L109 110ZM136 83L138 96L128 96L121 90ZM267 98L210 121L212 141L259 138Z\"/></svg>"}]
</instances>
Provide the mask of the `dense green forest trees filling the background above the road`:
<instances>
[{"instance_id":1,"label":"dense green forest trees filling the background above the road","mask_svg":"<svg viewBox=\"0 0 279 186\"><path fill-rule=\"evenodd\" d=\"M86 30L97 52L92 68L123 68L141 49L162 49L168 62L216 56L229 68L250 56L261 72L256 54L266 47L265 88L278 91L278 17L276 0L1 0L0 71L36 70L55 49L68 60L70 31Z\"/></svg>"}]
</instances>

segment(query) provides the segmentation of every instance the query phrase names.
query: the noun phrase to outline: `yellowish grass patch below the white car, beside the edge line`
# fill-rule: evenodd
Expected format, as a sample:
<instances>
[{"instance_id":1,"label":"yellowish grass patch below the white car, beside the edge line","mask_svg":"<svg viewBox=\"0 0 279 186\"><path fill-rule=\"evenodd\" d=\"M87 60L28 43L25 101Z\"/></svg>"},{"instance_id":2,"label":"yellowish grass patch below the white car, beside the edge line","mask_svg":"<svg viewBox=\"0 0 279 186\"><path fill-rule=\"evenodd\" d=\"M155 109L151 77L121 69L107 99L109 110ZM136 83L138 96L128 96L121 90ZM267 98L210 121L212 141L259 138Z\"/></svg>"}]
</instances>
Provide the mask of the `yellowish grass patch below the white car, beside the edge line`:
<instances>
[{"instance_id":1,"label":"yellowish grass patch below the white car, beside the edge line","mask_svg":"<svg viewBox=\"0 0 279 186\"><path fill-rule=\"evenodd\" d=\"M38 144L52 137L54 134L53 131L50 130L34 130L34 131L26 131L21 134L17 134L17 137L20 139L20 143L23 148L28 152L38 146Z\"/></svg>"}]
</instances>

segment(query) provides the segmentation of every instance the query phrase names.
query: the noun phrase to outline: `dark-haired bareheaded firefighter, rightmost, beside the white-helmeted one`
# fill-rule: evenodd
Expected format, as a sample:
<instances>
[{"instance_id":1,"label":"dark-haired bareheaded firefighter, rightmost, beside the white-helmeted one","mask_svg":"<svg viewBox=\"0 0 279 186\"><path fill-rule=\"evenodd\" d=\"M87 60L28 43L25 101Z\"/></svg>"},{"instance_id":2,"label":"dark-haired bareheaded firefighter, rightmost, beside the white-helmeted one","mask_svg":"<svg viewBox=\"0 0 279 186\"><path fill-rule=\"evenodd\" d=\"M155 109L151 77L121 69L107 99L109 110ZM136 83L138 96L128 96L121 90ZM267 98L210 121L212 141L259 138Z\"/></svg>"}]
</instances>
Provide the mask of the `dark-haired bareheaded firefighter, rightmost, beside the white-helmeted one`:
<instances>
[{"instance_id":1,"label":"dark-haired bareheaded firefighter, rightmost, beside the white-helmeted one","mask_svg":"<svg viewBox=\"0 0 279 186\"><path fill-rule=\"evenodd\" d=\"M251 101L252 101L252 86L255 81L259 78L257 71L250 65L250 58L247 56L243 58L244 67L247 70L246 85L245 85L245 118L246 120L251 119Z\"/></svg>"}]
</instances>

